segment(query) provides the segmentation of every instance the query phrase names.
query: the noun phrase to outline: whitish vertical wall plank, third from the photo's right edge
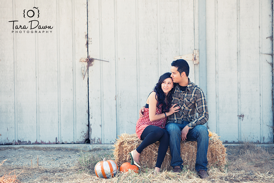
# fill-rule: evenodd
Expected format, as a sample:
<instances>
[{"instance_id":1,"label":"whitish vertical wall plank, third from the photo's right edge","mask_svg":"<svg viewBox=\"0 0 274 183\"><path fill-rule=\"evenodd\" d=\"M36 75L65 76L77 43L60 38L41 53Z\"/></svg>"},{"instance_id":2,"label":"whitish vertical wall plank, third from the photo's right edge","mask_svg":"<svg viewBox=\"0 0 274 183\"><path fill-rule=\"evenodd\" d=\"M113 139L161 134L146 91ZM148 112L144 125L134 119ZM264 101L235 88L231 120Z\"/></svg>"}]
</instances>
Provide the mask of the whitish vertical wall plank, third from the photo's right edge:
<instances>
[{"instance_id":1,"label":"whitish vertical wall plank, third from the photo's right edge","mask_svg":"<svg viewBox=\"0 0 274 183\"><path fill-rule=\"evenodd\" d=\"M238 141L237 117L237 0L218 2L219 133ZM223 44L223 43L226 44ZM234 86L234 87L233 87ZM232 102L234 101L234 102Z\"/></svg>"}]
</instances>

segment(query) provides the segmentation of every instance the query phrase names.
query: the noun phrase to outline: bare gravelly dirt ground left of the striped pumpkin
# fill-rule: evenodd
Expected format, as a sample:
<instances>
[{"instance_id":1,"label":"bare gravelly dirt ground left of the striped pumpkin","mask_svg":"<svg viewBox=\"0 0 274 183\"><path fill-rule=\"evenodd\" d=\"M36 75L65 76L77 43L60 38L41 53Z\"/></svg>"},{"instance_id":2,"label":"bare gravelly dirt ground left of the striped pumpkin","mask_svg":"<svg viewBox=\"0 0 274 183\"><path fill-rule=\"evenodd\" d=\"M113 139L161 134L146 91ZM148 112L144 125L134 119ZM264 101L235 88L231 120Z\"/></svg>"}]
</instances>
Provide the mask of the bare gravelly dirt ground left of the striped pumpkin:
<instances>
[{"instance_id":1,"label":"bare gravelly dirt ground left of the striped pumpkin","mask_svg":"<svg viewBox=\"0 0 274 183\"><path fill-rule=\"evenodd\" d=\"M112 150L94 149L93 153ZM10 147L0 146L0 177L15 170L18 180L23 182L63 182L79 174L78 160L87 153L81 149L53 147ZM38 159L38 163L37 163Z\"/></svg>"}]
</instances>

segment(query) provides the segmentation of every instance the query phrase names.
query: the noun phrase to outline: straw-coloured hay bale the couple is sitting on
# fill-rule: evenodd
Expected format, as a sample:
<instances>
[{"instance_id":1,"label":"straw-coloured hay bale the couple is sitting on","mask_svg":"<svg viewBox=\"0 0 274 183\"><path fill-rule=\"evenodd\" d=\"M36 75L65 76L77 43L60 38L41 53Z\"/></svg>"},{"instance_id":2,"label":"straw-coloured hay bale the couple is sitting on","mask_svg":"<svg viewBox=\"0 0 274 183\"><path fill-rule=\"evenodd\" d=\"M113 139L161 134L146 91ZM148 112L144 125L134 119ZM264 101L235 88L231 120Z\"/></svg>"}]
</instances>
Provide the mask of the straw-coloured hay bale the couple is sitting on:
<instances>
[{"instance_id":1,"label":"straw-coloured hay bale the couple is sitting on","mask_svg":"<svg viewBox=\"0 0 274 183\"><path fill-rule=\"evenodd\" d=\"M142 140L140 140L136 134L121 134L114 143L114 158L118 167L125 162L130 162L129 152L132 149L136 149ZM158 155L158 148L160 142L156 142L147 146L140 155L140 164L142 167L154 168ZM181 158L183 159L183 165L190 170L195 170L197 153L197 142L181 141ZM208 151L207 151L207 167L221 167L227 163L226 161L226 148L219 136L213 133L209 137ZM167 154L162 164L162 169L172 170L170 166L171 156L168 148Z\"/></svg>"}]
</instances>

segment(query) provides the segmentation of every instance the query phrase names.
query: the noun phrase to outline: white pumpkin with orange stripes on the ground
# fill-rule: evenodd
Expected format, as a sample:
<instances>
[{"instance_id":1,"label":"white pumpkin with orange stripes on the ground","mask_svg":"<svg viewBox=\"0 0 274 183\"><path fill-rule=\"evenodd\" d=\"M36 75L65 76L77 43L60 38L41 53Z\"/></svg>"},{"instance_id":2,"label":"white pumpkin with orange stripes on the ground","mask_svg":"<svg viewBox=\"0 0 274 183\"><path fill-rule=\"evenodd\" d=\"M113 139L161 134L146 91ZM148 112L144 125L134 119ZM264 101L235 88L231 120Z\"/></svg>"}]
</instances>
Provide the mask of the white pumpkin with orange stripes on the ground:
<instances>
[{"instance_id":1,"label":"white pumpkin with orange stripes on the ground","mask_svg":"<svg viewBox=\"0 0 274 183\"><path fill-rule=\"evenodd\" d=\"M100 178L114 177L117 174L117 170L117 164L113 160L106 161L106 158L98 162L94 167L95 174Z\"/></svg>"}]
</instances>

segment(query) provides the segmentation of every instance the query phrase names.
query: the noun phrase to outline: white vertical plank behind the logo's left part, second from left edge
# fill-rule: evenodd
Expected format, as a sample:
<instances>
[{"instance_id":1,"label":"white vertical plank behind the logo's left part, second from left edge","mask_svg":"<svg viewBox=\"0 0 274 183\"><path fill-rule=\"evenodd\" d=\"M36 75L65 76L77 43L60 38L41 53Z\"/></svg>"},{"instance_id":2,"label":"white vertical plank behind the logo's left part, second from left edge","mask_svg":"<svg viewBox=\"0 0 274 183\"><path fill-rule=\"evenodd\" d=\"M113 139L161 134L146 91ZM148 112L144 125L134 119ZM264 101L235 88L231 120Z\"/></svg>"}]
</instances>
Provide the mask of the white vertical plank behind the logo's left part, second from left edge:
<instances>
[{"instance_id":1,"label":"white vertical plank behind the logo's left part, second from left edge","mask_svg":"<svg viewBox=\"0 0 274 183\"><path fill-rule=\"evenodd\" d=\"M24 7L24 8L22 8ZM16 33L16 57L17 57L17 111L18 111L18 138L19 144L29 144L36 141L36 62L35 62L35 33L30 30L29 21L32 18L23 17L23 9L33 9L33 1L16 1L15 12L18 20L16 25L28 25L28 29L22 33ZM18 32L21 29L18 30ZM26 54L27 53L27 54Z\"/></svg>"}]
</instances>

